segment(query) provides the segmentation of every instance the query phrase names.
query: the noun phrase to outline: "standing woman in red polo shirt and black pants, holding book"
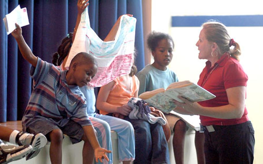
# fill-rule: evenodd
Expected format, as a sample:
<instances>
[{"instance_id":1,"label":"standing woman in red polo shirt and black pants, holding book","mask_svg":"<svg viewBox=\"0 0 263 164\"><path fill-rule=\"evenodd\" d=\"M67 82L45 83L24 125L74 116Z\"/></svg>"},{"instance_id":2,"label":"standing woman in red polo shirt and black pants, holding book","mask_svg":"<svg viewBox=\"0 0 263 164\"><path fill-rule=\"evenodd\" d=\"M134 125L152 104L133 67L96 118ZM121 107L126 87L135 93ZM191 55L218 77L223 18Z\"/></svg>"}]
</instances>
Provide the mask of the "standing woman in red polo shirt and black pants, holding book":
<instances>
[{"instance_id":1,"label":"standing woman in red polo shirt and black pants, holding book","mask_svg":"<svg viewBox=\"0 0 263 164\"><path fill-rule=\"evenodd\" d=\"M198 85L216 98L191 103L180 97L185 103L175 102L179 106L176 109L200 115L206 163L252 164L255 138L245 106L248 77L239 63L239 44L229 37L222 23L206 22L202 27L196 46L199 59L208 61Z\"/></svg>"}]
</instances>

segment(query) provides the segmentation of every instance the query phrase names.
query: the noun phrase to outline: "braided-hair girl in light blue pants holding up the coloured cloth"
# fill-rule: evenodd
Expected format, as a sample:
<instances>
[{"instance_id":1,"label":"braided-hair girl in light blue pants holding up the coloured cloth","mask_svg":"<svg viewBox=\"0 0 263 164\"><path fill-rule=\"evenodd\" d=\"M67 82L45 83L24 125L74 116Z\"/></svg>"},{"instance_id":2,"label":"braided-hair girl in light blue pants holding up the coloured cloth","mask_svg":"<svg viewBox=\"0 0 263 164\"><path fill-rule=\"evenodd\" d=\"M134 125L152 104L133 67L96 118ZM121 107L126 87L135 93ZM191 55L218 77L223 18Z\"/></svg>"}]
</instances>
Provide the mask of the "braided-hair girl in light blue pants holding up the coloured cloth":
<instances>
[{"instance_id":1,"label":"braided-hair girl in light blue pants holding up the coloured cloth","mask_svg":"<svg viewBox=\"0 0 263 164\"><path fill-rule=\"evenodd\" d=\"M88 0L85 1L87 3ZM56 66L60 66L62 70L66 69L64 66L66 64L66 60L68 58L68 54L71 48L71 45L74 41L76 29L79 25L80 18L82 12L84 12L85 6L82 1L78 1L77 8L78 8L78 15L77 21L75 25L75 29L73 33L69 33L61 42L60 46L58 47L58 51L53 54L52 63ZM88 3L87 3L88 4ZM127 14L128 16L132 16L131 14ZM104 41L111 41L114 40L119 23L120 18L116 21ZM123 164L131 164L132 161L135 159L135 141L134 141L134 130L132 124L128 121L107 116L107 115L100 115L95 113L95 103L96 97L94 93L94 88L84 86L81 87L80 90L83 92L86 100L87 100L87 113L89 119L92 122L95 130L97 131L97 138L99 144L106 148L107 150L112 151L112 142L111 142L111 130L115 131L118 135L118 158L119 161L122 161ZM113 163L113 156L112 153L107 154L109 161L104 163L112 164ZM100 163L100 161L96 162Z\"/></svg>"}]
</instances>

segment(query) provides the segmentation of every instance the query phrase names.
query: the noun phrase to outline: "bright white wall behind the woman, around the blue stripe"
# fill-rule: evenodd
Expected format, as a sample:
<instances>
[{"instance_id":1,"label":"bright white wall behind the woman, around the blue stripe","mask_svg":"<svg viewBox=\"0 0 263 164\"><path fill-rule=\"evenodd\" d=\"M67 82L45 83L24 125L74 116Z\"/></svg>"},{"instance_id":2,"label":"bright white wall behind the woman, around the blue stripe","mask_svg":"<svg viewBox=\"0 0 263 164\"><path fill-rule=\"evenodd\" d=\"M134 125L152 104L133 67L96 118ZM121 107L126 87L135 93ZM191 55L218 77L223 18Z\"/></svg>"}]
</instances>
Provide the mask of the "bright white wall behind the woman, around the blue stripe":
<instances>
[{"instance_id":1,"label":"bright white wall behind the woman, around the blue stripe","mask_svg":"<svg viewBox=\"0 0 263 164\"><path fill-rule=\"evenodd\" d=\"M162 3L161 3L162 2ZM205 66L205 60L198 59L195 43L201 27L171 27L171 16L193 15L249 15L263 14L260 1L249 3L239 0L219 1L173 1L152 0L151 29L170 33L175 41L175 52L170 68L178 75L179 80L197 82L199 74ZM222 8L226 8L222 10ZM248 74L246 106L255 129L254 164L263 163L263 104L261 87L263 81L263 27L229 27L229 34L240 44L240 64Z\"/></svg>"}]
</instances>

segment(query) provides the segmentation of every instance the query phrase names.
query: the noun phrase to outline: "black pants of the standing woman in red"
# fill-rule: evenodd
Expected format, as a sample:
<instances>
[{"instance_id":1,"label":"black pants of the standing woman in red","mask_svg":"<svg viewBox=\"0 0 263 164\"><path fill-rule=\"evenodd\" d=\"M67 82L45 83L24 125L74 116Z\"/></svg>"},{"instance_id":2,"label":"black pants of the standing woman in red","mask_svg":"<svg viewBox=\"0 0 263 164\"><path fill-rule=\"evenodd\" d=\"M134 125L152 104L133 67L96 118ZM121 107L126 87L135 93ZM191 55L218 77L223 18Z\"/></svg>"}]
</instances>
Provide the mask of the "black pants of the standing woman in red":
<instances>
[{"instance_id":1,"label":"black pants of the standing woman in red","mask_svg":"<svg viewBox=\"0 0 263 164\"><path fill-rule=\"evenodd\" d=\"M205 128L206 164L252 164L254 159L254 129L250 121L236 125L213 125Z\"/></svg>"}]
</instances>

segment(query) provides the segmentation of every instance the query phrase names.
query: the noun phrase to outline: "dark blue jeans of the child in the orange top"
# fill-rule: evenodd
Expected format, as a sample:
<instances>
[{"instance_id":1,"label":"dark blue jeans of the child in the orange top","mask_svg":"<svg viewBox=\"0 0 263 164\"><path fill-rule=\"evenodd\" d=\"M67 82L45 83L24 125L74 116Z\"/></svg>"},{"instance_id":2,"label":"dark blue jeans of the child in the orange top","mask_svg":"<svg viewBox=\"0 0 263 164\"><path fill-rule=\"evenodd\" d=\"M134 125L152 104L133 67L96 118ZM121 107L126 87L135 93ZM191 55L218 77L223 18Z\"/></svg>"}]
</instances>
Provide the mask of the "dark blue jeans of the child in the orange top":
<instances>
[{"instance_id":1,"label":"dark blue jeans of the child in the orange top","mask_svg":"<svg viewBox=\"0 0 263 164\"><path fill-rule=\"evenodd\" d=\"M132 123L135 135L134 164L170 163L168 145L161 124L149 124L144 120L125 120Z\"/></svg>"}]
</instances>

